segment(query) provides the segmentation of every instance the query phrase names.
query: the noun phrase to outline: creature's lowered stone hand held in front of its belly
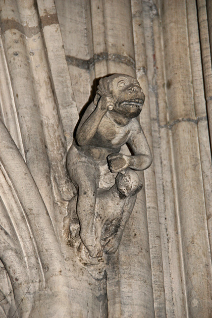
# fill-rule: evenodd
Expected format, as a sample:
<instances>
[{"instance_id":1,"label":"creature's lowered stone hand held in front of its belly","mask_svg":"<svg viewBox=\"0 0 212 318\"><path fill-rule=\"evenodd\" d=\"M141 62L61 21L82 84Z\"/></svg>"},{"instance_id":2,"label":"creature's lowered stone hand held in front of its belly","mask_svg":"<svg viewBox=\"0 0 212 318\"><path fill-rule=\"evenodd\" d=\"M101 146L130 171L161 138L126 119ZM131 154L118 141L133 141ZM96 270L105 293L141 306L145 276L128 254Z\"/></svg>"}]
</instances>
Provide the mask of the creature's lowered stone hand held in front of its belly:
<instances>
[{"instance_id":1,"label":"creature's lowered stone hand held in front of its belly","mask_svg":"<svg viewBox=\"0 0 212 318\"><path fill-rule=\"evenodd\" d=\"M108 156L108 163L111 172L120 172L130 165L130 159L122 153L112 153Z\"/></svg>"}]
</instances>

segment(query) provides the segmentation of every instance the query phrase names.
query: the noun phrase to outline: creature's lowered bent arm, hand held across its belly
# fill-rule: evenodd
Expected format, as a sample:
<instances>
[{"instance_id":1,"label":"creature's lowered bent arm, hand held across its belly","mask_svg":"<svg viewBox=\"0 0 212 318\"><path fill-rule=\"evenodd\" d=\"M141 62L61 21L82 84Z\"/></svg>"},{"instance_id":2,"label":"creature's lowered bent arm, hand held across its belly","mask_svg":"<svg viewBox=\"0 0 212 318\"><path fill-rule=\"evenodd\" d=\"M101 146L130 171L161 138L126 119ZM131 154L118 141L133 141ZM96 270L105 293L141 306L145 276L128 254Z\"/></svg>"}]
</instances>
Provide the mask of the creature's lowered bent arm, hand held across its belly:
<instances>
[{"instance_id":1,"label":"creature's lowered bent arm, hand held across its belly","mask_svg":"<svg viewBox=\"0 0 212 318\"><path fill-rule=\"evenodd\" d=\"M126 168L134 170L145 170L152 163L152 155L148 142L143 133L141 125L134 121L132 134L127 144L132 149L134 155L128 156L122 153L114 153L108 156L110 169L112 172L120 172Z\"/></svg>"}]
</instances>

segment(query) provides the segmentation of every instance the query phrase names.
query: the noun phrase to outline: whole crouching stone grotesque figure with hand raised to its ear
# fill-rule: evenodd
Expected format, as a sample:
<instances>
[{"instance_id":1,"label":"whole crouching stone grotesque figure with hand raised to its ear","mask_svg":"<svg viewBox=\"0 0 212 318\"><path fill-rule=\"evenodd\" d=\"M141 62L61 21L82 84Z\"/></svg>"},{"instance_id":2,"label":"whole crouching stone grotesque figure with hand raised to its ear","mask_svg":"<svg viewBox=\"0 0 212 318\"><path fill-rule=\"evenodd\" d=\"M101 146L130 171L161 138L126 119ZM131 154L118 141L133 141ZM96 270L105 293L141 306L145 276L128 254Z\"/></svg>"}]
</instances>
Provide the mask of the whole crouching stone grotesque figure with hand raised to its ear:
<instances>
[{"instance_id":1,"label":"whole crouching stone grotesque figure with hand raised to its ear","mask_svg":"<svg viewBox=\"0 0 212 318\"><path fill-rule=\"evenodd\" d=\"M117 250L142 187L135 170L151 165L151 152L136 118L144 99L131 76L100 79L68 152L67 167L77 189L68 208L75 220L75 224L70 221L70 229L78 228L89 257ZM124 144L133 155L120 153Z\"/></svg>"}]
</instances>

